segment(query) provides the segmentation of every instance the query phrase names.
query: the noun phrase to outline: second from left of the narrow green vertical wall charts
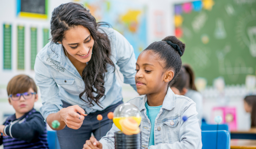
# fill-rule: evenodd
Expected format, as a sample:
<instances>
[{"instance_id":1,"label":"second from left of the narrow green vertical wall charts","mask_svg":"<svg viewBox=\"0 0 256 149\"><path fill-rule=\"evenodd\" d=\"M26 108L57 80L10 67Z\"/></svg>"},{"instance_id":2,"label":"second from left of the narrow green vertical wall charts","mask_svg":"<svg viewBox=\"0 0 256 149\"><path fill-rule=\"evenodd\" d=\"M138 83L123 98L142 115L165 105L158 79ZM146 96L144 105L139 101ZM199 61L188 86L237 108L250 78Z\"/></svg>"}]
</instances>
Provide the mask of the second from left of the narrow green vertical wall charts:
<instances>
[{"instance_id":1,"label":"second from left of the narrow green vertical wall charts","mask_svg":"<svg viewBox=\"0 0 256 149\"><path fill-rule=\"evenodd\" d=\"M17 69L24 70L25 65L25 27L17 26Z\"/></svg>"}]
</instances>

